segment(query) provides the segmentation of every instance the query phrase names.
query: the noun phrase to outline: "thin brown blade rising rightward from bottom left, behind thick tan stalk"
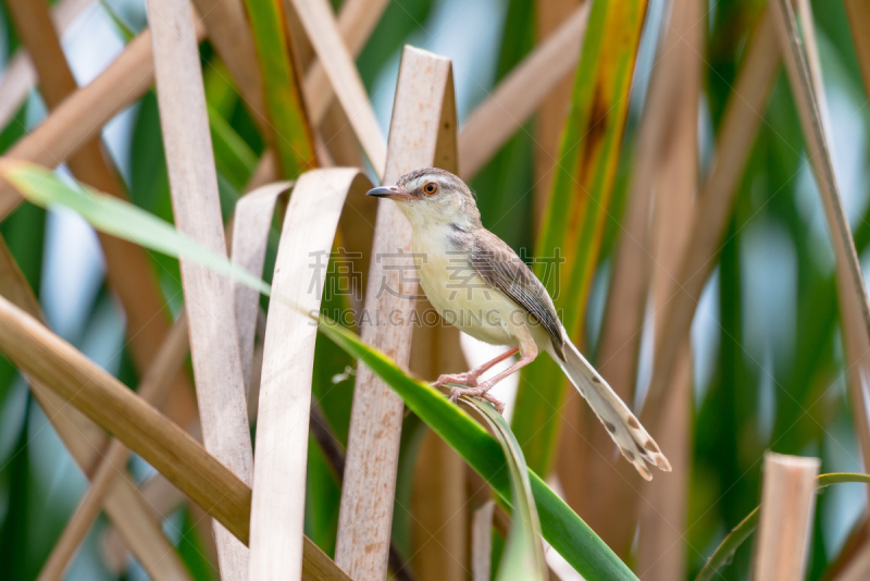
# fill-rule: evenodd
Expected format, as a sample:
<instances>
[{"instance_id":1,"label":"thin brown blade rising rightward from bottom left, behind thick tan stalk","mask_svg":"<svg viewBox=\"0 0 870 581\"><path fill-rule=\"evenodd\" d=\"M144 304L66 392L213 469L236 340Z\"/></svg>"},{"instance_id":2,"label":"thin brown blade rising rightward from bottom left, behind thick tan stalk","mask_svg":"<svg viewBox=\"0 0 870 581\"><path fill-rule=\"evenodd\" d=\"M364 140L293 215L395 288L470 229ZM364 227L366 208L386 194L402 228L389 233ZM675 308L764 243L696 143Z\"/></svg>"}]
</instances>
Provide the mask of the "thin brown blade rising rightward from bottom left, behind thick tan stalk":
<instances>
[{"instance_id":1,"label":"thin brown blade rising rightward from bottom left, behind thick tan stalk","mask_svg":"<svg viewBox=\"0 0 870 581\"><path fill-rule=\"evenodd\" d=\"M160 346L157 357L139 385L139 396L154 406L160 406L172 379L178 374L189 344L187 341L187 317L184 314L173 325ZM85 540L94 521L100 514L105 495L120 473L126 471L129 449L117 440L112 440L94 472L90 487L66 523L60 540L54 544L46 564L39 572L39 581L60 580L79 545Z\"/></svg>"}]
</instances>

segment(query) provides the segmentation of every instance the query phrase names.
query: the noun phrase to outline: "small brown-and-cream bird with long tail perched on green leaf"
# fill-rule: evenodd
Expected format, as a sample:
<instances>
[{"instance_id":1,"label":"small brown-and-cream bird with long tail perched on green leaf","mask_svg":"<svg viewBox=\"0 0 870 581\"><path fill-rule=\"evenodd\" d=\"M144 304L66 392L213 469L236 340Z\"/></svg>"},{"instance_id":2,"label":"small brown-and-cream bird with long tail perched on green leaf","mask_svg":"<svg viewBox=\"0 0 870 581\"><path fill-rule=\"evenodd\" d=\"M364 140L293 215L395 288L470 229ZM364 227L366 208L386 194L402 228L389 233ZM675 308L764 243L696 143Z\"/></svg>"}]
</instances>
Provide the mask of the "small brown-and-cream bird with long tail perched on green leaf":
<instances>
[{"instance_id":1,"label":"small brown-and-cream bird with long tail perched on green leaf","mask_svg":"<svg viewBox=\"0 0 870 581\"><path fill-rule=\"evenodd\" d=\"M474 195L462 180L444 170L421 168L402 175L395 186L371 189L369 196L395 201L410 221L420 285L445 322L480 341L510 346L476 369L439 376L435 386L452 384L452 401L460 395L482 397L501 411L504 405L489 390L547 351L644 479L652 478L647 463L671 471L637 418L571 343L540 281L505 242L483 227ZM517 353L518 361L480 381Z\"/></svg>"}]
</instances>

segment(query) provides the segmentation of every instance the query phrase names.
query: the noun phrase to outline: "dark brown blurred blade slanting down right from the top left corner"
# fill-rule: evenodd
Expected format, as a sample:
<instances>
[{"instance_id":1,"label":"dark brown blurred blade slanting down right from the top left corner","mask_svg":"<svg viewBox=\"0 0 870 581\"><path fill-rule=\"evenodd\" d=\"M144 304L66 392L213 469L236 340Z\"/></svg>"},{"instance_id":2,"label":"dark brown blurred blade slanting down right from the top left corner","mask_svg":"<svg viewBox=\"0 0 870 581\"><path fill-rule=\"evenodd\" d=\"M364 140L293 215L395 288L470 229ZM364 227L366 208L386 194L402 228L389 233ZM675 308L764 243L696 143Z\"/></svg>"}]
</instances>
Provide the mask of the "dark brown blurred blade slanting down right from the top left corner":
<instances>
[{"instance_id":1,"label":"dark brown blurred blade slanting down right from the top left corner","mask_svg":"<svg viewBox=\"0 0 870 581\"><path fill-rule=\"evenodd\" d=\"M50 110L75 92L77 85L45 0L10 0L7 4L24 46L30 49L39 74L39 89ZM67 160L76 180L126 199L121 177L103 154L99 135L83 144ZM136 369L144 373L156 360L170 324L148 256L141 247L114 236L99 234L107 265L107 280L126 314L126 336ZM189 394L190 381L178 370L173 390Z\"/></svg>"}]
</instances>

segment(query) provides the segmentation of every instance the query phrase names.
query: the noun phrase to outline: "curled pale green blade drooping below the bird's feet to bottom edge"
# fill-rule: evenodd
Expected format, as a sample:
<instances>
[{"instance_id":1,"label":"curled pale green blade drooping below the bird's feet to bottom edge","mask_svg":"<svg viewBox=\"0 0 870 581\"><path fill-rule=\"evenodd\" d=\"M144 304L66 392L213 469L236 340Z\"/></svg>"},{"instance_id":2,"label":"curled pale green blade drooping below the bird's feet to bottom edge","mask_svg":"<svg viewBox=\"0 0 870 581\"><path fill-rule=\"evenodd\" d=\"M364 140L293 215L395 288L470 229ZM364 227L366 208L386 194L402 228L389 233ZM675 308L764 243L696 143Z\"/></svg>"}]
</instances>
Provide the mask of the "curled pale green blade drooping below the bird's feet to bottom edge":
<instances>
[{"instance_id":1,"label":"curled pale green blade drooping below the bird's feet to bottom edge","mask_svg":"<svg viewBox=\"0 0 870 581\"><path fill-rule=\"evenodd\" d=\"M464 398L474 407L496 434L505 453L510 473L511 505L513 519L505 546L505 556L498 567L498 581L523 581L549 579L544 547L540 544L540 522L535 509L529 468L525 466L520 443L505 418L495 408L477 398Z\"/></svg>"}]
</instances>

